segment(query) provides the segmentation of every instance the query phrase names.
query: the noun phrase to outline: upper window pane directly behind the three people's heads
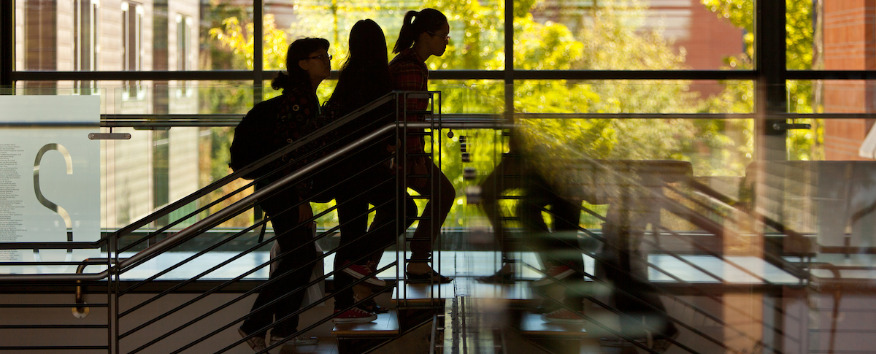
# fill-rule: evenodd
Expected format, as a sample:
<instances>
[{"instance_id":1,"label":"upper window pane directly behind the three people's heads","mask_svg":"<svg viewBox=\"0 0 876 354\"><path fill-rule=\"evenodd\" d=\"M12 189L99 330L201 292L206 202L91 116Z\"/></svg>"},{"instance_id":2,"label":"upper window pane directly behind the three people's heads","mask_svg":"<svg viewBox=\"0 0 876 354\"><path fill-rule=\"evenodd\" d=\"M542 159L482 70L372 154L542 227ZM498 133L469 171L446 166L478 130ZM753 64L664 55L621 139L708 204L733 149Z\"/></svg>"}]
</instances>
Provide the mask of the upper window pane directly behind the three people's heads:
<instances>
[{"instance_id":1,"label":"upper window pane directly behind the three people's heads","mask_svg":"<svg viewBox=\"0 0 876 354\"><path fill-rule=\"evenodd\" d=\"M380 2L367 0L307 0L294 6L270 4L265 7L265 69L284 66L289 43L298 37L322 37L331 42L332 68L338 69L349 52L350 29L356 21L370 18L386 36L392 49L407 11L432 7L444 13L450 23L447 51L427 61L431 70L502 69L504 67L504 14L501 0L461 1L437 6L431 3Z\"/></svg>"}]
</instances>

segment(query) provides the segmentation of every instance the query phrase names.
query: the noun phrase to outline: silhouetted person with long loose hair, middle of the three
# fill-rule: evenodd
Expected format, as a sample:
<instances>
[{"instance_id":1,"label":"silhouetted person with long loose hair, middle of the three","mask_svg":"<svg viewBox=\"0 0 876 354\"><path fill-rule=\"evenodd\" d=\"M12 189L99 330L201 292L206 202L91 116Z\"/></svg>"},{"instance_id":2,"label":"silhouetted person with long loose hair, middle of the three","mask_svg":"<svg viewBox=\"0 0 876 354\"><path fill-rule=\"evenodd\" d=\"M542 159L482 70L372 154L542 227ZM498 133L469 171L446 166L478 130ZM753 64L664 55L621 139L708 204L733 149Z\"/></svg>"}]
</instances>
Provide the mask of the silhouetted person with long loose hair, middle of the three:
<instances>
[{"instance_id":1,"label":"silhouetted person with long loose hair, middle of the three","mask_svg":"<svg viewBox=\"0 0 876 354\"><path fill-rule=\"evenodd\" d=\"M341 68L338 84L324 107L324 124L389 94L392 88L387 61L386 39L380 26L370 19L356 22L350 30L350 56ZM393 122L395 106L387 103L341 126L333 137L339 144L346 144ZM412 214L416 213L417 207L413 200L404 198L403 191L396 194L389 148L394 144L394 135L387 134L386 138L344 158L336 165L338 167L331 169L334 176L326 178L349 178L328 191L337 202L341 230L334 262L335 322L361 323L377 318L372 312L377 309L373 300L345 310L354 304L353 289L349 287L357 279L366 279L364 284L386 286L386 282L374 277L377 264L384 250L395 243L396 236L413 223L412 218L401 221L402 209L399 206L402 203ZM376 209L370 230L368 204Z\"/></svg>"}]
</instances>

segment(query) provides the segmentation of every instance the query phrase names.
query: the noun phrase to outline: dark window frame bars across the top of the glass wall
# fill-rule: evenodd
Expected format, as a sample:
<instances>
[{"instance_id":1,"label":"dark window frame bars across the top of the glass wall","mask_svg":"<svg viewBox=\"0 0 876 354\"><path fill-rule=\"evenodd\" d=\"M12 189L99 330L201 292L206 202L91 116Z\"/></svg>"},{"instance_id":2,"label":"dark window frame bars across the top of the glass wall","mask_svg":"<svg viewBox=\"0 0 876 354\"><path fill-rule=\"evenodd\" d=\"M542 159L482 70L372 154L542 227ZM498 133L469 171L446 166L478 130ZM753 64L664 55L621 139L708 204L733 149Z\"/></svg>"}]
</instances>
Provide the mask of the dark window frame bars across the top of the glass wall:
<instances>
[{"instance_id":1,"label":"dark window frame bars across the top of the glass wall","mask_svg":"<svg viewBox=\"0 0 876 354\"><path fill-rule=\"evenodd\" d=\"M90 1L99 4L99 0ZM254 70L164 70L164 71L21 71L15 70L14 33L10 27L14 23L14 2L0 2L0 16L6 21L0 27L0 88L11 88L19 81L252 81L253 100L263 99L261 87L267 77L264 71L262 55L263 43L256 41L254 45ZM505 8L512 9L513 0L505 0ZM830 119L849 118L849 114L813 113L798 114L787 112L787 97L785 85L791 80L876 80L874 70L805 70L795 71L786 68L785 23L786 7L784 1L756 1L755 28L755 62L753 70L517 70L514 67L513 45L514 26L513 13L505 11L505 65L501 70L436 70L430 77L436 80L501 80L505 83L505 111L514 112L514 82L517 80L747 80L756 87L755 112L757 120L756 135L761 138L755 142L756 150L782 151L785 132L776 130L776 122L787 119ZM255 38L263 37L264 3L253 5L253 21ZM766 21L769 19L769 21ZM8 25L7 25L8 24ZM99 52L99 50L98 50ZM337 78L337 72L332 73ZM647 115L647 113L643 113ZM160 116L160 115L156 115ZM635 117L635 114L631 115ZM750 116L749 114L726 114L728 118ZM859 113L855 118L876 119L876 113ZM594 117L598 117L595 114ZM510 118L510 117L507 117ZM102 125L113 126L102 119ZM768 143L770 142L770 143ZM766 144L766 145L764 145ZM767 146L768 145L768 146ZM768 149L758 149L767 146ZM784 156L760 156L760 158L786 158Z\"/></svg>"}]
</instances>

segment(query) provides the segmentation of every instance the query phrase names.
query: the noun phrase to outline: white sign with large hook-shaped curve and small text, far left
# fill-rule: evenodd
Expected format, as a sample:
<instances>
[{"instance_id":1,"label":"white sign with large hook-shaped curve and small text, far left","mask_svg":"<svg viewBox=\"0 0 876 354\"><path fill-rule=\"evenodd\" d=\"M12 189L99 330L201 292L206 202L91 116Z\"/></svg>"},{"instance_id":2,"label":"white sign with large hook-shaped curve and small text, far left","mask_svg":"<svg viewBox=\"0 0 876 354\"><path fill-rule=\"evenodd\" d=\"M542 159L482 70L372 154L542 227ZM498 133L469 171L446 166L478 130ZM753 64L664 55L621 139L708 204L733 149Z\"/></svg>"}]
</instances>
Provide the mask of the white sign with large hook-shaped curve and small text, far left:
<instances>
[{"instance_id":1,"label":"white sign with large hook-shaped curve and small text, far left","mask_svg":"<svg viewBox=\"0 0 876 354\"><path fill-rule=\"evenodd\" d=\"M100 142L88 139L98 131L100 97L0 96L0 122L32 123L0 128L0 242L100 239ZM81 123L90 126L75 126ZM0 261L78 261L96 254L0 250Z\"/></svg>"}]
</instances>

